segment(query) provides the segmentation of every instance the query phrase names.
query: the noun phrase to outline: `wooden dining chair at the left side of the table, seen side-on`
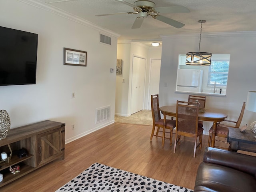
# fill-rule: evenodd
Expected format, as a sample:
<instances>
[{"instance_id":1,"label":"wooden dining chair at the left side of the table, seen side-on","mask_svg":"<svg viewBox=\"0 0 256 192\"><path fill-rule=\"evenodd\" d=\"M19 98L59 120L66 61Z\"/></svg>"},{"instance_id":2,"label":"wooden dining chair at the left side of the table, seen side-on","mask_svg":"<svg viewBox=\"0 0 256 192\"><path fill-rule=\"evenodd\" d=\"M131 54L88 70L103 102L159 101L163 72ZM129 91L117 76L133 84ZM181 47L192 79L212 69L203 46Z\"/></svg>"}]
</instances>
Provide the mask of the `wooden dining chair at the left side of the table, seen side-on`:
<instances>
[{"instance_id":1,"label":"wooden dining chair at the left side of the table, seen side-on","mask_svg":"<svg viewBox=\"0 0 256 192\"><path fill-rule=\"evenodd\" d=\"M158 94L151 95L151 111L152 111L152 118L153 118L153 127L152 127L152 133L150 136L150 141L152 141L153 136L158 137L158 133L162 132L162 136L159 136L162 138L162 147L164 147L164 140L170 139L170 146L172 146L172 130L176 126L176 120L170 120L166 119L166 115L164 114L164 119L160 116L160 110L159 110L159 98ZM164 120L166 120L166 126L164 128ZM155 128L157 127L156 134ZM162 130L160 131L160 128ZM170 130L170 138L165 137L165 129Z\"/></svg>"}]
</instances>

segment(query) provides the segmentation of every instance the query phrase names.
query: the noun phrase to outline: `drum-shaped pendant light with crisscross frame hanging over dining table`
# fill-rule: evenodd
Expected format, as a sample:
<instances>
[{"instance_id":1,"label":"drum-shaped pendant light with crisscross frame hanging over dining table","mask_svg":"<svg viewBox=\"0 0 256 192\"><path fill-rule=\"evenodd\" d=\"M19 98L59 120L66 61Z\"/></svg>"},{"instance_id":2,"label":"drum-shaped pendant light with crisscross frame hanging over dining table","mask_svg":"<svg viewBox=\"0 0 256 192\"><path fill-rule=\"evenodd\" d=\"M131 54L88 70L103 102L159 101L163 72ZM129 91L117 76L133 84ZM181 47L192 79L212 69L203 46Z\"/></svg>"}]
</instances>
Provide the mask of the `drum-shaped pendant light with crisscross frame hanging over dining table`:
<instances>
[{"instance_id":1,"label":"drum-shaped pendant light with crisscross frame hanging over dining table","mask_svg":"<svg viewBox=\"0 0 256 192\"><path fill-rule=\"evenodd\" d=\"M206 20L199 20L201 23L200 40L198 52L188 52L186 54L186 65L210 65L212 54L207 52L200 52L202 25Z\"/></svg>"}]
</instances>

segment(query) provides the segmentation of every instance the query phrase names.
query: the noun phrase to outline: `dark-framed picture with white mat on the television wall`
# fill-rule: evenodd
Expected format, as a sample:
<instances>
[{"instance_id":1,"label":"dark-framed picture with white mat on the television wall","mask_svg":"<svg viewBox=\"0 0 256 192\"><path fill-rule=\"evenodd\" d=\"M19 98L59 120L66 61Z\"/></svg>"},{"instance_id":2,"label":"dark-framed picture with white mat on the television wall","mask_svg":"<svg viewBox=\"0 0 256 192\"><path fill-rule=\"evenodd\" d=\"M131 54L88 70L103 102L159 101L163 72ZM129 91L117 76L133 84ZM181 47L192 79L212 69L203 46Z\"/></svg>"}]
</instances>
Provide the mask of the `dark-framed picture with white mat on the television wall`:
<instances>
[{"instance_id":1,"label":"dark-framed picture with white mat on the television wall","mask_svg":"<svg viewBox=\"0 0 256 192\"><path fill-rule=\"evenodd\" d=\"M64 65L87 66L87 52L64 47Z\"/></svg>"}]
</instances>

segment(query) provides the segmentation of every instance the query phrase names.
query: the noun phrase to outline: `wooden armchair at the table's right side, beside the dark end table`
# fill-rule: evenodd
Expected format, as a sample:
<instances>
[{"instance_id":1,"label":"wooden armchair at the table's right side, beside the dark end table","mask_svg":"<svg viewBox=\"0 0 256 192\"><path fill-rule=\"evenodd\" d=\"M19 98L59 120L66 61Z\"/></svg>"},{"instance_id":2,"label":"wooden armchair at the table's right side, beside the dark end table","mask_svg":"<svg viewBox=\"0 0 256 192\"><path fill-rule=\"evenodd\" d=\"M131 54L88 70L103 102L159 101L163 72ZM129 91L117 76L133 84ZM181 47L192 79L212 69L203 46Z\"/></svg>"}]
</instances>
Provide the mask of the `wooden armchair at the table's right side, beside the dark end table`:
<instances>
[{"instance_id":1,"label":"wooden armchair at the table's right side, beside the dark end table","mask_svg":"<svg viewBox=\"0 0 256 192\"><path fill-rule=\"evenodd\" d=\"M240 115L239 115L237 121L232 121L232 120L227 120L227 119L224 120L226 122L234 123L235 124L234 126L222 124L220 122L217 124L216 131L215 131L215 140L216 141L223 142L223 143L228 143L227 141L217 140L216 137L221 137L221 138L227 139L227 137L228 137L228 127L239 128L239 126L242 122L242 118L244 116L244 109L245 109L245 102L242 105L242 109L241 109L241 112L240 112ZM213 126L209 130L208 147L212 146L212 131L213 131ZM214 146L214 147L226 149L224 147L218 147L218 146Z\"/></svg>"}]
</instances>

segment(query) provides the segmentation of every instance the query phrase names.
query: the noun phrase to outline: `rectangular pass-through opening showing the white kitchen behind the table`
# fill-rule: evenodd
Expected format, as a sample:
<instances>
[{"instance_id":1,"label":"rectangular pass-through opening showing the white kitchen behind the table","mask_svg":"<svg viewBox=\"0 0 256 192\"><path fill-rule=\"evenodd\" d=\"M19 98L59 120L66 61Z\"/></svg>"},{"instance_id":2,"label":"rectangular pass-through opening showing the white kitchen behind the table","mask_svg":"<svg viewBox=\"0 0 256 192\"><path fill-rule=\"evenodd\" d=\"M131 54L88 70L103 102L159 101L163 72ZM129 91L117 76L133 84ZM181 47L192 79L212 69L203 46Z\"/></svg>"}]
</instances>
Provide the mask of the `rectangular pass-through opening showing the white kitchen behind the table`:
<instances>
[{"instance_id":1,"label":"rectangular pass-through opening showing the white kitchen behind the table","mask_svg":"<svg viewBox=\"0 0 256 192\"><path fill-rule=\"evenodd\" d=\"M212 54L211 65L190 66L185 64L186 55L180 54L178 60L176 90L177 92L226 95L230 54ZM188 74L182 71L189 70ZM192 75L200 71L198 74ZM193 76L193 78L192 78ZM195 78L198 77L199 78ZM214 84L215 90L214 90ZM217 91L218 88L218 91ZM220 88L222 93L220 94Z\"/></svg>"}]
</instances>

